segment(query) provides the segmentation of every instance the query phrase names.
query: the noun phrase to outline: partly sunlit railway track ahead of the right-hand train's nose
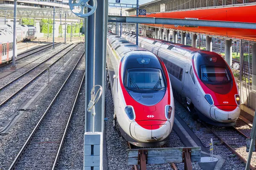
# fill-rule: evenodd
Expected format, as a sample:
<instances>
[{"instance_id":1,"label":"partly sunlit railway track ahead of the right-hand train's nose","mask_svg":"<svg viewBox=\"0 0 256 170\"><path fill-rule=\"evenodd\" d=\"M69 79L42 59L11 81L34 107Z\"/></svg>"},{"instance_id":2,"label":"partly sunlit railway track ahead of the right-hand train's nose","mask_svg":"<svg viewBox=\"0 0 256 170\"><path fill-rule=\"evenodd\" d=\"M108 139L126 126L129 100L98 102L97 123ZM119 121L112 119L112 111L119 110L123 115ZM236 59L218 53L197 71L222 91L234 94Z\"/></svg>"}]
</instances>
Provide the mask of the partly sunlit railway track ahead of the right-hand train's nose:
<instances>
[{"instance_id":1,"label":"partly sunlit railway track ahead of the right-hand train's nose","mask_svg":"<svg viewBox=\"0 0 256 170\"><path fill-rule=\"evenodd\" d=\"M211 131L222 144L237 156L242 162L246 163L248 153L246 152L246 139L250 136L251 127L243 120L238 119L237 125L234 127L214 127L202 123L209 131ZM256 170L256 153L253 153L251 170Z\"/></svg>"}]
</instances>

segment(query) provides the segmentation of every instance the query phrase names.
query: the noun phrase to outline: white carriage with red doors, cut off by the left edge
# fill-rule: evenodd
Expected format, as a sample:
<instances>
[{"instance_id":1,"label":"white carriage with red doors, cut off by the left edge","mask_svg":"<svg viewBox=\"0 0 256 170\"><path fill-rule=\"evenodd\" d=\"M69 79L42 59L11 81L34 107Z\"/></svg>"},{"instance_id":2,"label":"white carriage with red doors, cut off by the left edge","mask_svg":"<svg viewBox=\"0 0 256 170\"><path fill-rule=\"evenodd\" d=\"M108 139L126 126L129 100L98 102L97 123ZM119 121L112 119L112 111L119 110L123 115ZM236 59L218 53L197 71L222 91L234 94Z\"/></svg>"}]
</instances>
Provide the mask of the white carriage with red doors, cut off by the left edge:
<instances>
[{"instance_id":1,"label":"white carriage with red doors, cut off by the left edge","mask_svg":"<svg viewBox=\"0 0 256 170\"><path fill-rule=\"evenodd\" d=\"M17 51L17 50L16 50ZM11 31L0 31L0 63L12 59L13 34Z\"/></svg>"}]
</instances>

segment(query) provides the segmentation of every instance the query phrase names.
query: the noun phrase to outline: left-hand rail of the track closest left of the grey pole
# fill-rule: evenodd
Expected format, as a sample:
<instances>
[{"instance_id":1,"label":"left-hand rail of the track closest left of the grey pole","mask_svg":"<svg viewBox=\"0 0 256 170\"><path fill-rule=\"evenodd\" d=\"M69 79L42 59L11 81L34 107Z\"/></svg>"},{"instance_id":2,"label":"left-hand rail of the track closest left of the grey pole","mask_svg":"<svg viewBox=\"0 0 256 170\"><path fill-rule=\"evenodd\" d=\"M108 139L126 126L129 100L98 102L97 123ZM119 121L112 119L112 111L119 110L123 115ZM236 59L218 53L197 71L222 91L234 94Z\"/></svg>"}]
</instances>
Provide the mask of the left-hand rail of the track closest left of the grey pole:
<instances>
[{"instance_id":1,"label":"left-hand rail of the track closest left of the grey pole","mask_svg":"<svg viewBox=\"0 0 256 170\"><path fill-rule=\"evenodd\" d=\"M12 170L15 168L15 165L17 164L17 161L19 160L20 156L22 155L22 153L24 152L24 150L26 149L26 146L29 144L30 140L32 139L32 136L34 136L36 130L38 129L39 125L41 125L41 122L43 121L44 117L47 115L47 113L49 112L50 108L52 107L53 103L55 102L55 100L57 99L57 97L59 96L59 94L61 93L61 90L64 88L64 85L66 85L68 79L70 78L71 74L73 73L73 71L75 70L75 68L77 67L78 63L80 62L81 58L84 56L84 52L81 55L81 57L79 58L78 62L76 62L75 67L73 68L73 70L70 72L70 74L68 75L67 79L65 80L65 82L63 83L63 85L61 86L61 88L59 89L59 91L57 92L57 94L55 95L54 99L52 99L52 102L50 103L50 105L48 106L47 110L44 112L43 116L41 117L41 119L39 120L39 122L37 123L37 125L35 126L35 128L33 129L32 133L29 135L28 139L26 140L26 142L23 144L23 147L21 148L20 152L17 154L17 156L15 157L15 160L12 162L11 166L9 167L9 170Z\"/></svg>"}]
</instances>

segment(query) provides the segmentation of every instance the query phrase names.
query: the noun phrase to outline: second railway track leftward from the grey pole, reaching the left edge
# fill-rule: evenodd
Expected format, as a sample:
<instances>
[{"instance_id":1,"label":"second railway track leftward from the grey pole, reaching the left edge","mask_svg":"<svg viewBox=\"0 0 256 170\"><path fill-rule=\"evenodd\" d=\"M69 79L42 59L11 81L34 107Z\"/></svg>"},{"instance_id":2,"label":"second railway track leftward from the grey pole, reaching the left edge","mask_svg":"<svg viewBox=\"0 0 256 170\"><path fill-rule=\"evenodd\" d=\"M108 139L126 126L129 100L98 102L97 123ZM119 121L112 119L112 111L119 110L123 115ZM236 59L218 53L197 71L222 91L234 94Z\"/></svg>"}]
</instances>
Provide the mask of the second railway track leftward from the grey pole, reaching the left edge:
<instances>
[{"instance_id":1,"label":"second railway track leftward from the grey pole, reaching the left edge","mask_svg":"<svg viewBox=\"0 0 256 170\"><path fill-rule=\"evenodd\" d=\"M67 48L69 48L71 45L72 44L70 44ZM75 48L76 46L74 46L73 48ZM73 49L73 48L70 48L68 51L64 53L63 51L66 50L67 48L64 48L58 53L53 54L49 58L44 59L44 61L40 62L38 65L35 65L35 67L29 69L25 73L21 74L19 77L13 79L6 85L2 86L0 88L0 94L3 97L0 99L0 107L4 105L6 102L8 102L10 99L12 99L12 97L14 97L20 91L22 91L32 81L34 81L39 76L44 74L47 71L47 67L51 68L52 65L54 65L55 63L61 60L62 56L67 55Z\"/></svg>"}]
</instances>

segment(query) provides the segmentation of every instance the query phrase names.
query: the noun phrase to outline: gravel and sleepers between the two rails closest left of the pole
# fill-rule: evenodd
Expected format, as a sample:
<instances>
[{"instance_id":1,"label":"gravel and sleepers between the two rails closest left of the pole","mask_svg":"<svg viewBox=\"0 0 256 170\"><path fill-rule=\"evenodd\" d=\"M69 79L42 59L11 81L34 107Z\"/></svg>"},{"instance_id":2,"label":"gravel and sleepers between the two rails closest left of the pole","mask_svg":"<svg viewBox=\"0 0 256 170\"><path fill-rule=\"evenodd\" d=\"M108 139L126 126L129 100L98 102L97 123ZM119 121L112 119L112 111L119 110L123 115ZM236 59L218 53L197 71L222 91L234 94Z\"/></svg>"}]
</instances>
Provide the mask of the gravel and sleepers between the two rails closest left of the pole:
<instances>
[{"instance_id":1,"label":"gravel and sleepers between the two rails closest left of the pole","mask_svg":"<svg viewBox=\"0 0 256 170\"><path fill-rule=\"evenodd\" d=\"M70 111L73 107L73 101L76 98L80 82L84 75L84 57L80 60L76 69L71 74L64 88L61 90L57 99L49 109L47 115L42 120L29 144L26 146L23 155L20 157L17 165L19 168L51 168L55 160L55 155L45 155L44 153L56 154L61 142ZM70 88L72 87L72 88ZM38 144L38 142L45 142ZM47 143L50 142L50 143ZM57 143L58 142L58 143ZM29 154L39 154L41 159L33 158Z\"/></svg>"}]
</instances>

